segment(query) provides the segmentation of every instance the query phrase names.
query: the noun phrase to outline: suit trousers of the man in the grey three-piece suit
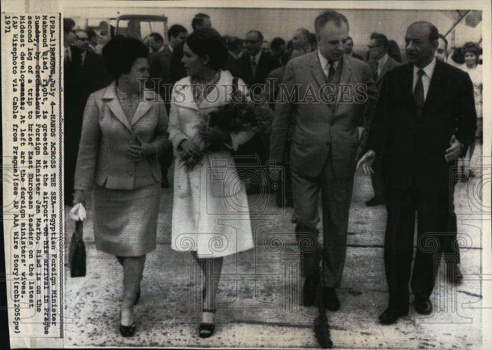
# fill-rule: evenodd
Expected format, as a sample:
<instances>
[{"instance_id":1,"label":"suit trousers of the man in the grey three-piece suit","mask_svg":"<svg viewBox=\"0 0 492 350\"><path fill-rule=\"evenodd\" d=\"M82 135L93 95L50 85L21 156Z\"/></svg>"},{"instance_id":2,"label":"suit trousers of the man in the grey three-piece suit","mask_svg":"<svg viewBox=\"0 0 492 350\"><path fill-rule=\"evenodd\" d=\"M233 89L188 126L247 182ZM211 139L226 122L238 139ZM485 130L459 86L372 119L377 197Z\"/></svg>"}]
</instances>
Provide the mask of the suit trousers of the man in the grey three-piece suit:
<instances>
[{"instance_id":1,"label":"suit trousers of the man in the grey three-piece suit","mask_svg":"<svg viewBox=\"0 0 492 350\"><path fill-rule=\"evenodd\" d=\"M327 287L338 288L341 284L353 183L353 177L335 178L331 155L328 156L323 170L317 177L307 177L292 172L292 195L298 222L296 236L299 246L307 248L303 253L303 275L313 274L319 268L320 259L323 258L323 284ZM312 237L317 235L315 228L319 222L320 190L324 244L322 248L318 246L317 249L309 249Z\"/></svg>"}]
</instances>

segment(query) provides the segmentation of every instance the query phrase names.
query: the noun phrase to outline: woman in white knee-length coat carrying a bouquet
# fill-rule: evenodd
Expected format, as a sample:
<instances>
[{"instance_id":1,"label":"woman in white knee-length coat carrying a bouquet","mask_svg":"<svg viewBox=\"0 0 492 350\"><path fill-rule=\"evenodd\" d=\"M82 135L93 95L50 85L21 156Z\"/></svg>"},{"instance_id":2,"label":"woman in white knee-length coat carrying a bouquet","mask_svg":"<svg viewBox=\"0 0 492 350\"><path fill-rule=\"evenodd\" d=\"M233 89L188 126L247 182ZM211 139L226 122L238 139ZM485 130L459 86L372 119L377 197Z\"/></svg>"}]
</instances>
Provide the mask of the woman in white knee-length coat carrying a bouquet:
<instances>
[{"instance_id":1,"label":"woman in white knee-length coat carrying a bouquet","mask_svg":"<svg viewBox=\"0 0 492 350\"><path fill-rule=\"evenodd\" d=\"M175 85L168 127L177 156L171 247L180 252L191 251L199 259L205 281L212 281L212 266L201 259L213 259L216 276L222 269L223 256L253 248L246 189L239 181L231 156L231 150L237 150L253 134L204 127L210 112L232 98L234 77L220 69L227 59L220 34L212 28L195 31L186 39L183 51L187 77ZM210 88L203 89L207 85ZM239 81L239 86L245 85ZM221 147L204 152L211 142L219 142ZM187 170L182 163L186 155L202 158ZM202 338L214 332L211 320L217 286L218 280L214 278L203 287L204 308L199 328Z\"/></svg>"}]
</instances>

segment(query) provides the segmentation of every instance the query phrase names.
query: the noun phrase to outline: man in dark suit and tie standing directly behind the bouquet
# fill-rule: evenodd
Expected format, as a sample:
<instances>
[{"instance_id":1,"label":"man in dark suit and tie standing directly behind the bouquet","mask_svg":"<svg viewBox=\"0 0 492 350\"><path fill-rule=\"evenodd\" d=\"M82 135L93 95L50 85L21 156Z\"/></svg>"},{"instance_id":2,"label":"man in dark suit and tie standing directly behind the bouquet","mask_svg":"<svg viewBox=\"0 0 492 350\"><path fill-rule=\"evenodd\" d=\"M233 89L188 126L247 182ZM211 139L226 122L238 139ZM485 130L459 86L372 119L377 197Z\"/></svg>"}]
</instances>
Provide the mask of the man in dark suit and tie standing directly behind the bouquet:
<instances>
[{"instance_id":1,"label":"man in dark suit and tie standing directly behind the bouquet","mask_svg":"<svg viewBox=\"0 0 492 350\"><path fill-rule=\"evenodd\" d=\"M238 76L244 80L250 89L250 95L261 95L263 84L265 84L268 74L279 67L280 64L271 54L262 51L263 34L261 32L247 32L245 42L247 55L243 55L236 61ZM260 132L259 134L254 135L251 140L241 145L237 151L237 155L247 157L256 156L262 165L266 165L270 148L269 141L270 135ZM251 162L251 160L246 160L246 158L236 159L236 161L236 164L246 164ZM239 176L241 178L246 178L247 175L245 176L245 174L247 174L247 169L245 172L239 171ZM260 183L250 183L247 187L247 193L260 193L263 185ZM268 189L269 185L267 185L266 188Z\"/></svg>"}]
</instances>

